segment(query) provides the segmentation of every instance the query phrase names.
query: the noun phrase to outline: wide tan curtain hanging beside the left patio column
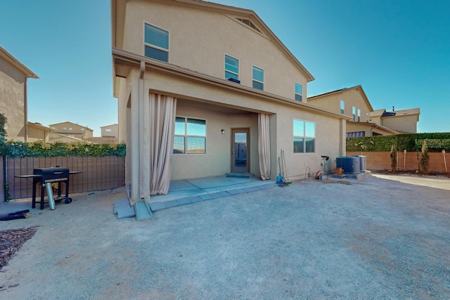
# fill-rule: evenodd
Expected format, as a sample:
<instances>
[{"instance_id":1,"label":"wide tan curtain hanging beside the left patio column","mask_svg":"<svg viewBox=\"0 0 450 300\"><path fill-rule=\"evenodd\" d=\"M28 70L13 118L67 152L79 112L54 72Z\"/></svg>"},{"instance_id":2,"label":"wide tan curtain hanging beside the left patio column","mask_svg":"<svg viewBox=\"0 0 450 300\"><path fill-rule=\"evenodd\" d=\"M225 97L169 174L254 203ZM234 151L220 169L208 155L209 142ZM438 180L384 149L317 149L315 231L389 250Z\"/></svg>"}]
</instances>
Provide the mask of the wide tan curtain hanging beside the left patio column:
<instances>
[{"instance_id":1,"label":"wide tan curtain hanging beside the left patio column","mask_svg":"<svg viewBox=\"0 0 450 300\"><path fill-rule=\"evenodd\" d=\"M150 195L169 192L176 98L150 93Z\"/></svg>"}]
</instances>

